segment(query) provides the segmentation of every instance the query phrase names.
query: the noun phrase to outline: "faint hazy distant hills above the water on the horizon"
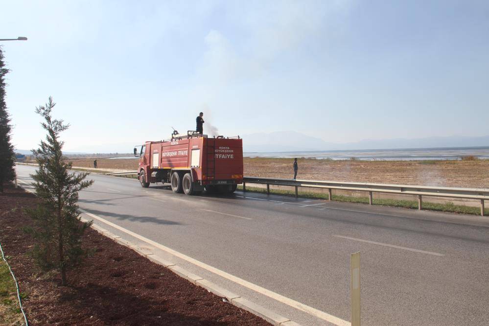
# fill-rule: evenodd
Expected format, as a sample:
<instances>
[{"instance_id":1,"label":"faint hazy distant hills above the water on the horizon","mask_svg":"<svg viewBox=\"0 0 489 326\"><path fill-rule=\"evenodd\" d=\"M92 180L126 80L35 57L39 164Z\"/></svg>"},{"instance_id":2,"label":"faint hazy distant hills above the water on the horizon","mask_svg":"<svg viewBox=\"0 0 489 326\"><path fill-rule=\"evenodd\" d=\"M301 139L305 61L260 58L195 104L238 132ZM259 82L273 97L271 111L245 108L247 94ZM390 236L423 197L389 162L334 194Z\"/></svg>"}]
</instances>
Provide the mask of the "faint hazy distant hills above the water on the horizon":
<instances>
[{"instance_id":1,"label":"faint hazy distant hills above the water on the horizon","mask_svg":"<svg viewBox=\"0 0 489 326\"><path fill-rule=\"evenodd\" d=\"M427 137L416 139L360 140L349 143L327 142L294 131L243 135L245 152L296 152L356 149L395 149L489 146L489 136Z\"/></svg>"}]
</instances>

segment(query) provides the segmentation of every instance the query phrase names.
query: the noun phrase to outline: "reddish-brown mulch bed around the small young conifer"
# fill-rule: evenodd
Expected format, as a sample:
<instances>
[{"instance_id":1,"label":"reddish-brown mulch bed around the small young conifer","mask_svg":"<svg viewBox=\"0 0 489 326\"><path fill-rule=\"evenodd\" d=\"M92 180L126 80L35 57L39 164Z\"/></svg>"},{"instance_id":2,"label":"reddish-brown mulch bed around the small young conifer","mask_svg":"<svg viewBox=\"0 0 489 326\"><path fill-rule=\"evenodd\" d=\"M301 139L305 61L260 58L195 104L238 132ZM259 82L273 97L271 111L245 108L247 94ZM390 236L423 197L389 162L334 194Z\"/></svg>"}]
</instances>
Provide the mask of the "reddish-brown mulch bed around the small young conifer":
<instances>
[{"instance_id":1,"label":"reddish-brown mulch bed around the small young conifer","mask_svg":"<svg viewBox=\"0 0 489 326\"><path fill-rule=\"evenodd\" d=\"M21 228L32 222L22 209L37 201L12 186L0 193L0 241L31 325L270 325L92 229L83 244L95 253L61 286L27 254L33 240Z\"/></svg>"}]
</instances>

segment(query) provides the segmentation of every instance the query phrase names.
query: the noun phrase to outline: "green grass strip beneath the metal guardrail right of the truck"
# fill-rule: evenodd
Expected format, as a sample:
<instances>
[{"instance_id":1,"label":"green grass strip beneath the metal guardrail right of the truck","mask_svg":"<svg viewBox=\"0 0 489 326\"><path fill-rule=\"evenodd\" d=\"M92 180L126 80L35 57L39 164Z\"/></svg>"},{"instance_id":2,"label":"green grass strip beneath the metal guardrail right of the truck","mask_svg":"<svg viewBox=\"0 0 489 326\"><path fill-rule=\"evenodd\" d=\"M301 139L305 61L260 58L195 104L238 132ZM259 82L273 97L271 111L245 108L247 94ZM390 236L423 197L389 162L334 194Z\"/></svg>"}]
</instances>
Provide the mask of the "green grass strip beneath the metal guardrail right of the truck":
<instances>
[{"instance_id":1,"label":"green grass strip beneath the metal guardrail right of the truck","mask_svg":"<svg viewBox=\"0 0 489 326\"><path fill-rule=\"evenodd\" d=\"M243 190L243 186L238 186L238 189ZM256 193L267 193L266 188L258 188L258 187L250 187L250 186L246 187L246 191L256 192ZM275 195L295 197L294 190L270 189L270 193ZM309 191L298 191L298 195L301 198L325 199L325 200L327 200L329 197L327 193L309 192ZM369 197L333 195L332 200L337 202L347 202L347 203L360 203L360 204L369 203ZM415 200L373 199L373 205L402 207L402 208L408 208L413 210L418 209L418 202ZM478 207L455 205L451 202L446 202L442 204L423 202L423 210L435 210L435 211L444 211L444 212L469 214L469 215L481 214L481 210ZM484 210L484 212L486 216L489 216L489 209Z\"/></svg>"}]
</instances>

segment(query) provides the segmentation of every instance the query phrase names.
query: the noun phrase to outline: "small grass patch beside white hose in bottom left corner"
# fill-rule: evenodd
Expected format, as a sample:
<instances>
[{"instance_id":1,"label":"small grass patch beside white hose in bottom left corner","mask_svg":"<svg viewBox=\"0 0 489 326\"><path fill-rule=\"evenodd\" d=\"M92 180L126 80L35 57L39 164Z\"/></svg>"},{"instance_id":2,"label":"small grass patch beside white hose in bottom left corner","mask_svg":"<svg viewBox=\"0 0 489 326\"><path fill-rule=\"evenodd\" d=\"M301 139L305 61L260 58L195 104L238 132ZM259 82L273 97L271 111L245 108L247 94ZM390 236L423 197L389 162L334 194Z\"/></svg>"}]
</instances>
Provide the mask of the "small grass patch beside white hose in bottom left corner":
<instances>
[{"instance_id":1,"label":"small grass patch beside white hose in bottom left corner","mask_svg":"<svg viewBox=\"0 0 489 326\"><path fill-rule=\"evenodd\" d=\"M7 264L0 256L0 325L23 325L17 288Z\"/></svg>"}]
</instances>

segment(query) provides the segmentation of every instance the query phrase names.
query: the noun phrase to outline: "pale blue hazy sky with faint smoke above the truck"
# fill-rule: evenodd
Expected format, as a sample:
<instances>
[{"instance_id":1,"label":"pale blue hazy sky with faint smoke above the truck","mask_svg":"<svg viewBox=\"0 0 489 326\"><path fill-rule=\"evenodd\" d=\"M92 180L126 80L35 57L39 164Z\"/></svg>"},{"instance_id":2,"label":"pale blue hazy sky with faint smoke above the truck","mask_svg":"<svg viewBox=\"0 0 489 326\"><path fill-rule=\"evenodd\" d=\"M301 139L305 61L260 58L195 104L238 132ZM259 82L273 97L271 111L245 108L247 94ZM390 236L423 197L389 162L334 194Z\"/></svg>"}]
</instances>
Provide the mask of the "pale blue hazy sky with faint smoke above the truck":
<instances>
[{"instance_id":1,"label":"pale blue hazy sky with faint smoke above the truck","mask_svg":"<svg viewBox=\"0 0 489 326\"><path fill-rule=\"evenodd\" d=\"M18 149L53 96L66 151L195 129L328 142L489 135L489 1L7 1ZM127 147L127 148L126 148Z\"/></svg>"}]
</instances>

